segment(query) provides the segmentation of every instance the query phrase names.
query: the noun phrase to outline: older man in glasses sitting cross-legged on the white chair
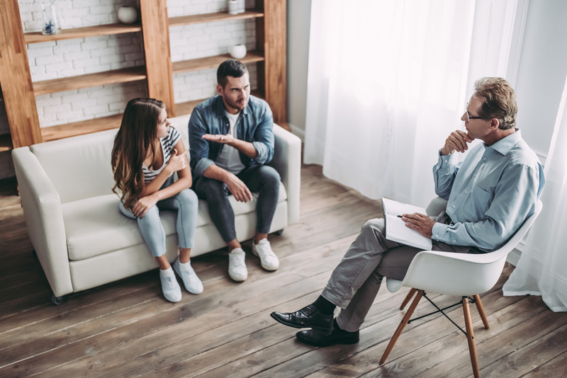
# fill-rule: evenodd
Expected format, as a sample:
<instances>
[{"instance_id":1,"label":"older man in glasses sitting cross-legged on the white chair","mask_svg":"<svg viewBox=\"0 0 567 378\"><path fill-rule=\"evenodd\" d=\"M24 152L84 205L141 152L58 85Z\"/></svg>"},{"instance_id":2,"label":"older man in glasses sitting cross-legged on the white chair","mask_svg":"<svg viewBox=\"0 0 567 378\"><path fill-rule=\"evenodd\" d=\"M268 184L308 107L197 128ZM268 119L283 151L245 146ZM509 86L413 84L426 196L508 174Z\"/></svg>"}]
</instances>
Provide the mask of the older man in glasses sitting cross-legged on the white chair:
<instances>
[{"instance_id":1,"label":"older man in glasses sitting cross-legged on the white chair","mask_svg":"<svg viewBox=\"0 0 567 378\"><path fill-rule=\"evenodd\" d=\"M448 200L446 216L404 214L406 226L432 239L434 251L487 253L504 244L534 213L544 186L543 168L515 128L515 92L504 79L484 78L461 120L466 132L452 132L433 168L435 191ZM464 161L474 139L481 139ZM443 218L443 221L442 221ZM316 346L352 344L374 302L382 277L403 280L420 249L388 241L383 219L361 229L327 286L313 303L291 313L273 312L280 323L312 328L298 340ZM333 311L342 309L335 321Z\"/></svg>"}]
</instances>

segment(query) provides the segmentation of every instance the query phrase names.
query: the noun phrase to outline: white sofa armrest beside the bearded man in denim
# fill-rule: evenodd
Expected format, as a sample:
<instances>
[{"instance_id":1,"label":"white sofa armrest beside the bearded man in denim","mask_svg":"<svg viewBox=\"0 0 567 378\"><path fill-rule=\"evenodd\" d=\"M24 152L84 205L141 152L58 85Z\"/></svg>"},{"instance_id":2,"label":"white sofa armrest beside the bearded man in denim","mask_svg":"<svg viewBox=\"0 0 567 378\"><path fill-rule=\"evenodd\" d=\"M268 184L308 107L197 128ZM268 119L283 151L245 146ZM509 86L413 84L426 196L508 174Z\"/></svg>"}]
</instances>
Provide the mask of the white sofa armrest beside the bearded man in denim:
<instances>
[{"instance_id":1,"label":"white sofa armrest beside the bearded man in denim","mask_svg":"<svg viewBox=\"0 0 567 378\"><path fill-rule=\"evenodd\" d=\"M288 224L299 222L301 186L301 139L274 124L274 158L269 166L276 168L288 195Z\"/></svg>"}]
</instances>

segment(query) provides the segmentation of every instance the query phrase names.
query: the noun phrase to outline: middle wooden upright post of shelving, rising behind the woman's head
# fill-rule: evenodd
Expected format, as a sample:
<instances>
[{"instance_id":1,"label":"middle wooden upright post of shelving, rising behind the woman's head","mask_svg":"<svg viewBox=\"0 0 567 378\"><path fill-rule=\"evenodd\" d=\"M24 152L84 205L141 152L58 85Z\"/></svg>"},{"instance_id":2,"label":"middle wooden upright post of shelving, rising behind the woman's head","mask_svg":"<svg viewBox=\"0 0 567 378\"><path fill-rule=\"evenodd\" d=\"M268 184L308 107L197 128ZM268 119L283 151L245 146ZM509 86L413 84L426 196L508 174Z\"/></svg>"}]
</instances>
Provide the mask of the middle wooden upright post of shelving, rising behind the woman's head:
<instances>
[{"instance_id":1,"label":"middle wooden upright post of shelving, rising behind the woman's head","mask_svg":"<svg viewBox=\"0 0 567 378\"><path fill-rule=\"evenodd\" d=\"M142 38L147 74L147 93L163 101L167 116L175 116L172 55L169 50L167 0L140 0Z\"/></svg>"}]
</instances>

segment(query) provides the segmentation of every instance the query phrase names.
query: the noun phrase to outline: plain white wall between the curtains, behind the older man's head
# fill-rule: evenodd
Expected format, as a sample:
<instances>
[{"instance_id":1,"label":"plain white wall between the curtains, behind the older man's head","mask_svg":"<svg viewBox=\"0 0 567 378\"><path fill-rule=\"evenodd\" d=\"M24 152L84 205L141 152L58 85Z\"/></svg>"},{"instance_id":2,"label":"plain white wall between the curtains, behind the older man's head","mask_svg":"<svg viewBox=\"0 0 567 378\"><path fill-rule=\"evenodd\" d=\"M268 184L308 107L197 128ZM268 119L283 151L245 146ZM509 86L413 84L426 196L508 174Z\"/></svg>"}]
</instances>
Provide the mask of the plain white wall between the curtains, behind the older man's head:
<instances>
[{"instance_id":1,"label":"plain white wall between the curtains, behind the older man's head","mask_svg":"<svg viewBox=\"0 0 567 378\"><path fill-rule=\"evenodd\" d=\"M541 157L547 155L567 75L567 1L531 0L516 94L517 125Z\"/></svg>"}]
</instances>

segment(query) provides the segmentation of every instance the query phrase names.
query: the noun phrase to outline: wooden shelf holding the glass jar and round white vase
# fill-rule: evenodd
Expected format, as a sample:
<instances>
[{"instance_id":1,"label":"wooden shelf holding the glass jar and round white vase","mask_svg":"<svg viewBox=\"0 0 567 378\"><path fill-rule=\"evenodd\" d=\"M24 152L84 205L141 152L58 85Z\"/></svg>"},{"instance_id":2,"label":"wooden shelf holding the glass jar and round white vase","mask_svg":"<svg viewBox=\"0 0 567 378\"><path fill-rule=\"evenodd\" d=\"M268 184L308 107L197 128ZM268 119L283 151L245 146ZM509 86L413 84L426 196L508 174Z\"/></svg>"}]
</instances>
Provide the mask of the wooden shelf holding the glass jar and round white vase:
<instances>
[{"instance_id":1,"label":"wooden shelf holding the glass jar and round white vase","mask_svg":"<svg viewBox=\"0 0 567 378\"><path fill-rule=\"evenodd\" d=\"M96 37L97 35L112 35L122 33L135 33L142 30L141 23L125 25L123 23L108 23L106 25L87 26L86 28L72 28L61 30L59 34L43 35L41 32L24 33L26 43L48 42L52 40L70 40L72 38Z\"/></svg>"}]
</instances>

